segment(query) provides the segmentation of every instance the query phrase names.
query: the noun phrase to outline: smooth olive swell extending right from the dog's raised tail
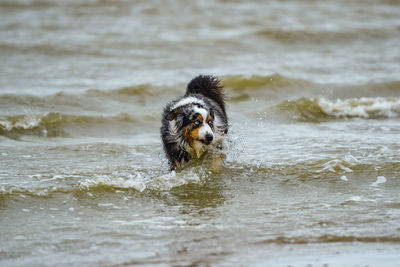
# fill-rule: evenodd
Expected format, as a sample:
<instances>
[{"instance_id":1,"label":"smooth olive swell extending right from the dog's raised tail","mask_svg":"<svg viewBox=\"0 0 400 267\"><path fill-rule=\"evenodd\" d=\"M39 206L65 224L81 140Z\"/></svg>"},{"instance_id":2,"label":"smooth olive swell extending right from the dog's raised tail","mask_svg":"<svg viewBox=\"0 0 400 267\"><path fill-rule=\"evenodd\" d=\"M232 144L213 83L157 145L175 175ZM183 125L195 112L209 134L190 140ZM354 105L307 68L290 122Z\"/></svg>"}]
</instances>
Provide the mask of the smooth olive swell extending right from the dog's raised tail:
<instances>
[{"instance_id":1,"label":"smooth olive swell extending right from the dog's raised tail","mask_svg":"<svg viewBox=\"0 0 400 267\"><path fill-rule=\"evenodd\" d=\"M295 97L329 98L400 97L400 81L361 85L318 84L309 80L272 74L266 76L225 76L222 78L229 102L277 101Z\"/></svg>"}]
</instances>

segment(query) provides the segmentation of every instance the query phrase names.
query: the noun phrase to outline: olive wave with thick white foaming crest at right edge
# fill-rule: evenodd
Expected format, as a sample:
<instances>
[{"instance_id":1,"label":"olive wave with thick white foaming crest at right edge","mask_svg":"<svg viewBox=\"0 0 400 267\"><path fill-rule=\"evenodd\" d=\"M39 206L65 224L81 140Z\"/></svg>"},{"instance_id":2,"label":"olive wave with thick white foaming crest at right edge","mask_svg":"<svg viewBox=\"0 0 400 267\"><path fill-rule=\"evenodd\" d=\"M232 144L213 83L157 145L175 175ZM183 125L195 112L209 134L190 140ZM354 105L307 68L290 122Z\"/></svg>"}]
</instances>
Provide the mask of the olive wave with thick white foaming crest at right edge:
<instances>
[{"instance_id":1,"label":"olive wave with thick white foaming crest at right edge","mask_svg":"<svg viewBox=\"0 0 400 267\"><path fill-rule=\"evenodd\" d=\"M275 107L280 114L302 122L319 122L340 118L381 119L400 116L400 98L362 97L328 100L300 98L286 100Z\"/></svg>"}]
</instances>

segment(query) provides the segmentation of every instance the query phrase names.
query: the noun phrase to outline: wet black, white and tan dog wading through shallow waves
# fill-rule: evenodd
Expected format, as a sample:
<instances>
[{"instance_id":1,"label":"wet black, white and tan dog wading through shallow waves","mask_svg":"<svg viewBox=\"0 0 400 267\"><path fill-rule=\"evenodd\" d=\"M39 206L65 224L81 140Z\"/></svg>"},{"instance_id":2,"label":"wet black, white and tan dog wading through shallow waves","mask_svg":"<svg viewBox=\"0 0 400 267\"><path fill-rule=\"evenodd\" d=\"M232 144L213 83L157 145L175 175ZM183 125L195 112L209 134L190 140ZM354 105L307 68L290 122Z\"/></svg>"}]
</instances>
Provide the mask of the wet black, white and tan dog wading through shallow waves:
<instances>
[{"instance_id":1,"label":"wet black, white and tan dog wading through shallow waves","mask_svg":"<svg viewBox=\"0 0 400 267\"><path fill-rule=\"evenodd\" d=\"M200 75L189 82L184 96L169 102L161 119L161 139L171 170L213 151L212 169L223 163L228 133L225 95L215 76Z\"/></svg>"}]
</instances>

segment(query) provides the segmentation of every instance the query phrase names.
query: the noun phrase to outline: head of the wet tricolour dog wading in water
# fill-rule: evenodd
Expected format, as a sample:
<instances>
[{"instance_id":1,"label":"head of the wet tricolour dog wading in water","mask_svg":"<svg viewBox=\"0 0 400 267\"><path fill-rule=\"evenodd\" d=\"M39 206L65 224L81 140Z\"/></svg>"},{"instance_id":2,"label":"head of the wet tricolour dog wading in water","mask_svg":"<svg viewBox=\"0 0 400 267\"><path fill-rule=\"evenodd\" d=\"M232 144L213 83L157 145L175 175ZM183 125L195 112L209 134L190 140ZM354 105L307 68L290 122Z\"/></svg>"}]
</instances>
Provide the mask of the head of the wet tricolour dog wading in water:
<instances>
[{"instance_id":1,"label":"head of the wet tricolour dog wading in water","mask_svg":"<svg viewBox=\"0 0 400 267\"><path fill-rule=\"evenodd\" d=\"M176 107L167 114L166 119L197 157L214 140L214 111L203 105L191 103Z\"/></svg>"}]
</instances>

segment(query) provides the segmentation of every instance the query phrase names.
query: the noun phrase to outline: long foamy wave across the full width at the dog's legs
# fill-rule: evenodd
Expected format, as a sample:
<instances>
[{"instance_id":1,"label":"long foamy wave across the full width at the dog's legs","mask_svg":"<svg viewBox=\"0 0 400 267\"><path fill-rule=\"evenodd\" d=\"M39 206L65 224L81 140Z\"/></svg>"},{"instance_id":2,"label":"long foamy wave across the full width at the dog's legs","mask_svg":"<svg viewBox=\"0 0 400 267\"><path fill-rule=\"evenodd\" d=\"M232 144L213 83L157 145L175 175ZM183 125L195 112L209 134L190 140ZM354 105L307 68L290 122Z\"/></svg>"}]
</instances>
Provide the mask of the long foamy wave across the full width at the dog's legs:
<instances>
[{"instance_id":1,"label":"long foamy wave across the full width at the dog's legs","mask_svg":"<svg viewBox=\"0 0 400 267\"><path fill-rule=\"evenodd\" d=\"M379 169L379 174L377 173ZM202 165L186 168L180 172L169 172L167 167L136 168L118 166L115 169L94 169L90 171L70 170L63 174L36 174L31 181L22 184L0 184L0 197L21 194L32 197L51 197L55 193L94 194L101 192L133 191L139 193L172 192L179 189L218 190L229 186L229 180L259 179L293 187L299 184L335 184L347 190L348 183L357 183L371 189L396 180L400 173L400 162L363 163L348 155L314 162L299 162L293 165L228 163L220 173L212 173ZM372 176L371 176L372 174ZM375 174L375 176L374 176ZM56 181L56 183L54 183ZM225 184L224 184L225 183ZM56 185L56 186L55 186ZM350 199L339 205L349 205L363 199ZM365 201L369 201L365 199ZM392 203L391 205L398 205Z\"/></svg>"}]
</instances>

